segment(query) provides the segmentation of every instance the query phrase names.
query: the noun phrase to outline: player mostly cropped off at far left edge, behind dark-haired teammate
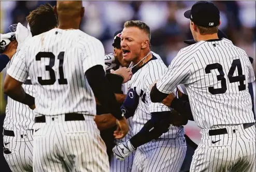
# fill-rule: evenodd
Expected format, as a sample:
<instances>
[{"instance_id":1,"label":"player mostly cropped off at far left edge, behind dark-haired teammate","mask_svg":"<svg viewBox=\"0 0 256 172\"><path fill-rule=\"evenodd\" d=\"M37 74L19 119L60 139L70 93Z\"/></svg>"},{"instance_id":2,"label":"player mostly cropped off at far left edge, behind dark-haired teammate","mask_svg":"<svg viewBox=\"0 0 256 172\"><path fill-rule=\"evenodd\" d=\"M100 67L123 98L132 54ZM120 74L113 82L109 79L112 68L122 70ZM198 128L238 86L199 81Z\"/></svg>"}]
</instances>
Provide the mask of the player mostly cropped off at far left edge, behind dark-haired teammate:
<instances>
[{"instance_id":1,"label":"player mostly cropped off at far left edge, behind dark-haired teammate","mask_svg":"<svg viewBox=\"0 0 256 172\"><path fill-rule=\"evenodd\" d=\"M6 67L6 65L11 60L12 56L15 54L18 42L13 39L15 33L1 34L0 42L0 72Z\"/></svg>"}]
</instances>

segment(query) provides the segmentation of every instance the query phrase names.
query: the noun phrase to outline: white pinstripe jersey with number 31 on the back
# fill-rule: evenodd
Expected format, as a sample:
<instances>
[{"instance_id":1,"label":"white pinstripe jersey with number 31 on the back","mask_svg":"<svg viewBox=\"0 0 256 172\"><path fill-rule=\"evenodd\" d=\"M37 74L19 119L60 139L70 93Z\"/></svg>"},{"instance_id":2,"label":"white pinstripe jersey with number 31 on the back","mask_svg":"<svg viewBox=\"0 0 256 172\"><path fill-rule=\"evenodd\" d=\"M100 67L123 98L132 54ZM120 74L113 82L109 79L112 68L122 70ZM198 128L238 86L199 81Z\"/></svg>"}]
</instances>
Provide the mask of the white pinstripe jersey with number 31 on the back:
<instances>
[{"instance_id":1,"label":"white pinstripe jersey with number 31 on the back","mask_svg":"<svg viewBox=\"0 0 256 172\"><path fill-rule=\"evenodd\" d=\"M31 77L38 95L35 114L95 116L94 94L84 73L95 65L104 67L101 41L80 30L54 28L31 38L20 51L7 73L21 82Z\"/></svg>"}]
</instances>

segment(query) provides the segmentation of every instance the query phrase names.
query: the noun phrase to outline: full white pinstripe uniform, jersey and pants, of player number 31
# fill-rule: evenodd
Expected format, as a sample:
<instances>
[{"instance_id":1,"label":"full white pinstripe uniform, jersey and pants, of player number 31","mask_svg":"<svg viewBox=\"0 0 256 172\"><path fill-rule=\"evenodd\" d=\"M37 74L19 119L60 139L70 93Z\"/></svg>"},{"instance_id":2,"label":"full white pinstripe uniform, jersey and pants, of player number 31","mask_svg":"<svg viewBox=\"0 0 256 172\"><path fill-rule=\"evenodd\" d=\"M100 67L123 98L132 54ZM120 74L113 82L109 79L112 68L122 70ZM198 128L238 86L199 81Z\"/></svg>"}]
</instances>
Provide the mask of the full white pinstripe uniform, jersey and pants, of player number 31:
<instances>
[{"instance_id":1,"label":"full white pinstripe uniform, jersey and pants, of player number 31","mask_svg":"<svg viewBox=\"0 0 256 172\"><path fill-rule=\"evenodd\" d=\"M106 146L93 121L94 94L84 76L95 65L104 67L104 55L98 39L80 30L54 28L28 40L7 70L20 82L31 77L37 93L35 116L47 118L47 123L35 124L40 128L34 137L35 171L109 171ZM90 120L48 121L74 112Z\"/></svg>"}]
</instances>

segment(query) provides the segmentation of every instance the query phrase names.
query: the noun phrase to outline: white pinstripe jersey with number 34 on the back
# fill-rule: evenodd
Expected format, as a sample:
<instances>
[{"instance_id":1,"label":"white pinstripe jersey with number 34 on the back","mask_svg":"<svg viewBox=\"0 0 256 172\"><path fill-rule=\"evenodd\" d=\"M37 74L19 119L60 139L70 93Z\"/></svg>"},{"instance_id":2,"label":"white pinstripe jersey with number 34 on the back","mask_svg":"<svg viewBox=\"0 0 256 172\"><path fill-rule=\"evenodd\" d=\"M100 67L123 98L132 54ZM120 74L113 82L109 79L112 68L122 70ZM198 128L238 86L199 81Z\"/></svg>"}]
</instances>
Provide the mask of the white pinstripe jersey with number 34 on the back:
<instances>
[{"instance_id":1,"label":"white pinstripe jersey with number 34 on the back","mask_svg":"<svg viewBox=\"0 0 256 172\"><path fill-rule=\"evenodd\" d=\"M181 49L157 88L170 93L184 83L196 124L219 128L255 121L248 91L254 79L246 52L223 38Z\"/></svg>"}]
</instances>

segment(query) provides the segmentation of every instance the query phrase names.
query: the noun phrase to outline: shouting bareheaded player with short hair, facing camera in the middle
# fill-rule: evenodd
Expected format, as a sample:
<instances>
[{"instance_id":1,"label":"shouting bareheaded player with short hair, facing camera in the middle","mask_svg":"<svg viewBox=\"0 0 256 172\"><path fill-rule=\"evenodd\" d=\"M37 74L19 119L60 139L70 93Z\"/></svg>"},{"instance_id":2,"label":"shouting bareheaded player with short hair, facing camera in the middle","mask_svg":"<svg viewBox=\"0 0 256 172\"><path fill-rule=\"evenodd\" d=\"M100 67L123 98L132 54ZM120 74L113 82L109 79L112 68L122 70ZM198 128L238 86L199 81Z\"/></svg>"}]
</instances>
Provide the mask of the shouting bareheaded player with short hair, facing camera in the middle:
<instances>
[{"instance_id":1,"label":"shouting bareheaded player with short hair, facing camera in the middle","mask_svg":"<svg viewBox=\"0 0 256 172\"><path fill-rule=\"evenodd\" d=\"M125 22L121 34L121 48L124 61L132 62L130 67L133 72L133 77L128 82L130 89L126 97L133 97L135 94L139 97L132 118L133 134L136 135L141 130L149 131L152 125L159 127L153 122L148 122L151 116L152 121L161 120L162 127L159 130L165 133L136 149L132 171L179 171L187 148L184 130L182 126L169 125L170 108L150 101L150 85L160 78L167 67L158 54L150 51L149 41L148 25L141 21ZM125 158L121 155L125 151L124 147L135 149L130 140L117 145L113 152L120 160ZM175 157L176 155L178 156Z\"/></svg>"}]
</instances>

